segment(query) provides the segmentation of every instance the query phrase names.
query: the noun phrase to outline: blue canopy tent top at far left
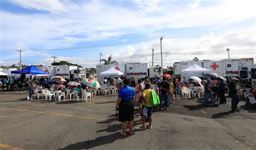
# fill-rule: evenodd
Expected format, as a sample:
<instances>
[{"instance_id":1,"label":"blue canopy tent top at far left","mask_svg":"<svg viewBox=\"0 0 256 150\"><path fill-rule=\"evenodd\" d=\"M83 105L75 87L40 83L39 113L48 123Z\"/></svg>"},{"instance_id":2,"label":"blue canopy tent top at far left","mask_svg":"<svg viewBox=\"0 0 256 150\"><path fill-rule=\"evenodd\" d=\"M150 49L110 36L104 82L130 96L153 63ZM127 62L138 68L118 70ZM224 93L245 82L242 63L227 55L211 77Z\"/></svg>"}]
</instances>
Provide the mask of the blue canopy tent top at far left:
<instances>
[{"instance_id":1,"label":"blue canopy tent top at far left","mask_svg":"<svg viewBox=\"0 0 256 150\"><path fill-rule=\"evenodd\" d=\"M11 74L29 74L29 75L49 75L48 72L37 69L35 66L31 65L28 68L11 71Z\"/></svg>"}]
</instances>

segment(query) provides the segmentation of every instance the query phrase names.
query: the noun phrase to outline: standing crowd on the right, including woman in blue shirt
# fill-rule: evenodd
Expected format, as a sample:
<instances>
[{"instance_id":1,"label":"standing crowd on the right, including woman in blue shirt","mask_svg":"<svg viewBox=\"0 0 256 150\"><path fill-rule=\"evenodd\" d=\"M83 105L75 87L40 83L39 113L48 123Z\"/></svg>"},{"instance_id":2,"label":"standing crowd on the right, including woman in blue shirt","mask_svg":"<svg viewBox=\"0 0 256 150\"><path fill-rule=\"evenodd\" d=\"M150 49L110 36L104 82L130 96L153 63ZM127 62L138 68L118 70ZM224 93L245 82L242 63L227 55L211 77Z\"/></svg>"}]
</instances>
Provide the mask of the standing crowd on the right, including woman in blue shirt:
<instances>
[{"instance_id":1,"label":"standing crowd on the right, including woman in blue shirt","mask_svg":"<svg viewBox=\"0 0 256 150\"><path fill-rule=\"evenodd\" d=\"M119 84L120 90L118 92L118 99L116 101L116 111L119 113L119 122L122 122L122 136L127 134L132 135L133 119L134 119L134 103L138 103L139 112L136 113L137 117L142 119L142 126L135 127L136 130L145 130L146 128L152 128L152 113L153 109L157 110L167 110L170 104L174 103L174 97L177 99L178 88L193 88L193 92L201 92L203 97L203 106L208 105L208 99L211 98L211 103L213 106L219 99L219 104L226 104L225 93L229 91L231 97L231 111L239 111L237 105L240 101L242 93L238 87L238 79L235 77L231 78L231 81L226 83L220 77L208 78L206 82L190 82L188 83L183 77L182 81L180 78L166 78L163 77L160 80L159 77L150 78L145 77L143 81L138 79L137 85L131 84L130 78L124 78L123 83ZM204 85L203 85L204 84ZM129 85L131 87L129 87ZM152 91L160 99L159 105L153 105L151 98L153 97ZM248 95L248 98L254 96ZM255 98L252 100L255 102ZM146 125L146 122L149 124ZM126 132L127 123L129 124L129 131Z\"/></svg>"}]
</instances>

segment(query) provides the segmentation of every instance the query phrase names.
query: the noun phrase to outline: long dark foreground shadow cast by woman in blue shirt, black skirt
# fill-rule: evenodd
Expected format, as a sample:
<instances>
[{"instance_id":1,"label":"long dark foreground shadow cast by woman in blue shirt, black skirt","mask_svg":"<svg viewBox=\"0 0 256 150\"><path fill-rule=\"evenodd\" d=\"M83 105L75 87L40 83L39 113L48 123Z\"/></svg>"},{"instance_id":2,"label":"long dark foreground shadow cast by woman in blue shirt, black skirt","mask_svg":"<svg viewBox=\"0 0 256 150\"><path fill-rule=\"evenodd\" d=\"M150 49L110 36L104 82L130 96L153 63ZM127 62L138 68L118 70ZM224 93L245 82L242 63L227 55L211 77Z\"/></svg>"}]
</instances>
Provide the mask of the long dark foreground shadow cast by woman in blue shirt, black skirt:
<instances>
[{"instance_id":1,"label":"long dark foreground shadow cast by woman in blue shirt, black skirt","mask_svg":"<svg viewBox=\"0 0 256 150\"><path fill-rule=\"evenodd\" d=\"M122 135L120 135L120 132L116 132L103 137L98 137L95 140L87 140L87 141L77 142L75 144L70 144L69 146L66 146L61 149L88 149L88 148L93 148L100 145L110 144L118 139L125 139L131 136L132 135L126 135L126 137L122 137Z\"/></svg>"}]
</instances>

